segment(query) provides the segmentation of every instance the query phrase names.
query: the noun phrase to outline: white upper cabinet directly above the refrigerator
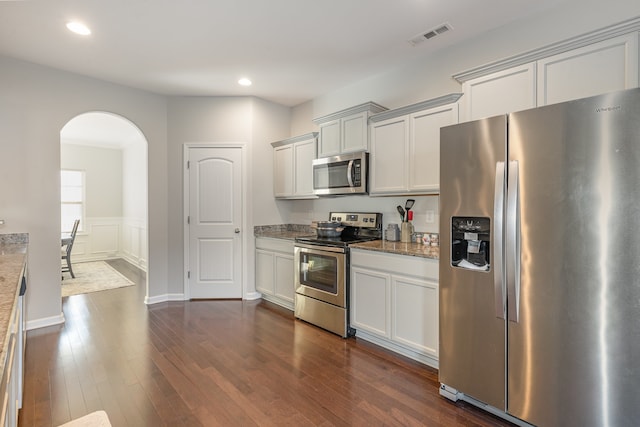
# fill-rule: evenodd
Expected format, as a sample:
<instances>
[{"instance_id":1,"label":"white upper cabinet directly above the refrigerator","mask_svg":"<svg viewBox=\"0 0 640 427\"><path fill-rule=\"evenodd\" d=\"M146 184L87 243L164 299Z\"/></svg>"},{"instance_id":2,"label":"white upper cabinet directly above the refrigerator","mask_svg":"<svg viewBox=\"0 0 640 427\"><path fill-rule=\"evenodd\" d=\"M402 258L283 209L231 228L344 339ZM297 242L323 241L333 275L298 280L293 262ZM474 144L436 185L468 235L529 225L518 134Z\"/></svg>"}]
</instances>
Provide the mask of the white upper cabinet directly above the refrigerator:
<instances>
[{"instance_id":1,"label":"white upper cabinet directly above the refrigerator","mask_svg":"<svg viewBox=\"0 0 640 427\"><path fill-rule=\"evenodd\" d=\"M454 75L464 92L462 121L637 87L639 25L629 21Z\"/></svg>"}]
</instances>

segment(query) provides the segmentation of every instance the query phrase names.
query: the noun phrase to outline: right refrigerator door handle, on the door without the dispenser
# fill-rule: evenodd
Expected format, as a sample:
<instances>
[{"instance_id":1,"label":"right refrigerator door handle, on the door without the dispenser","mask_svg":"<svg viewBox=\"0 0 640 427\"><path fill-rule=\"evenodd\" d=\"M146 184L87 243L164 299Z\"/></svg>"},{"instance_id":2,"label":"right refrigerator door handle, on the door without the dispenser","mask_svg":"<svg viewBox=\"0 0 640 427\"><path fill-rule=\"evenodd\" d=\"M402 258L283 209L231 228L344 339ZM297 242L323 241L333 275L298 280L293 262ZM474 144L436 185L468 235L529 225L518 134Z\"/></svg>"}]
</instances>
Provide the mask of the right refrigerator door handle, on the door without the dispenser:
<instances>
[{"instance_id":1,"label":"right refrigerator door handle, on the door without the dispenser","mask_svg":"<svg viewBox=\"0 0 640 427\"><path fill-rule=\"evenodd\" d=\"M507 181L507 304L509 320L520 321L520 183L518 161L509 162Z\"/></svg>"}]
</instances>

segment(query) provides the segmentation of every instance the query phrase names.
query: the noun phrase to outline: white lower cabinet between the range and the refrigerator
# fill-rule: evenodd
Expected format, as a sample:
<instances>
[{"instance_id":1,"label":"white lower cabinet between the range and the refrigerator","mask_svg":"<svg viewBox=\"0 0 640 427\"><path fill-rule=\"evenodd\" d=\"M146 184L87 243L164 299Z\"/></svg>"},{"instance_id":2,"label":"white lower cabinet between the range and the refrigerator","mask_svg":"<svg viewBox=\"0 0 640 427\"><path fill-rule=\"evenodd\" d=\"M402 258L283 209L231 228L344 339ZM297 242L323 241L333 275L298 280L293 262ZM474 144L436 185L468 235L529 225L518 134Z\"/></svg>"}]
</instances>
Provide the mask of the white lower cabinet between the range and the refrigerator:
<instances>
[{"instance_id":1,"label":"white lower cabinet between the range and the refrigerator","mask_svg":"<svg viewBox=\"0 0 640 427\"><path fill-rule=\"evenodd\" d=\"M356 337L438 367L438 261L351 250Z\"/></svg>"}]
</instances>

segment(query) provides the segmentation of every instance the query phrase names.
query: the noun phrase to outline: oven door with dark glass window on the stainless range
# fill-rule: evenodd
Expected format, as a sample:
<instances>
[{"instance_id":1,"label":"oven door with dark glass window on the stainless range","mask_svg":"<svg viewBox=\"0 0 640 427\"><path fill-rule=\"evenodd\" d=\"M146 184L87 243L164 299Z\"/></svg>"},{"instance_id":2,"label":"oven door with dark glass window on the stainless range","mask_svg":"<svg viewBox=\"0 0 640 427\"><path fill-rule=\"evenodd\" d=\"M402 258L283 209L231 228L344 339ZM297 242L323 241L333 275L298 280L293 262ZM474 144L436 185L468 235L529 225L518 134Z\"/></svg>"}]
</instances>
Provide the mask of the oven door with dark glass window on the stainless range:
<instances>
[{"instance_id":1,"label":"oven door with dark glass window on the stainless range","mask_svg":"<svg viewBox=\"0 0 640 427\"><path fill-rule=\"evenodd\" d=\"M296 292L346 307L345 266L344 248L297 243L294 256Z\"/></svg>"}]
</instances>

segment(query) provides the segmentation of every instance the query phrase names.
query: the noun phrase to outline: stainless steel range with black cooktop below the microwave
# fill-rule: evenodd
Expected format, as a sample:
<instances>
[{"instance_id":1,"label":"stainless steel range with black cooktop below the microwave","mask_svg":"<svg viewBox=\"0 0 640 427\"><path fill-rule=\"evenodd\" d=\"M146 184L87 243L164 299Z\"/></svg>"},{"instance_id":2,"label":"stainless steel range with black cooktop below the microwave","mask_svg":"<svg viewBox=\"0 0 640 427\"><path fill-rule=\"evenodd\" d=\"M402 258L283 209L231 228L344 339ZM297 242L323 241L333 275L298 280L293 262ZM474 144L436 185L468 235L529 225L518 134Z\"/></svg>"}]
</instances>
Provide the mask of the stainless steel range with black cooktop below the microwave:
<instances>
[{"instance_id":1,"label":"stainless steel range with black cooktop below the microwave","mask_svg":"<svg viewBox=\"0 0 640 427\"><path fill-rule=\"evenodd\" d=\"M295 316L343 338L354 335L349 326L349 244L382 238L382 214L331 212L340 223L336 237L296 239Z\"/></svg>"}]
</instances>

